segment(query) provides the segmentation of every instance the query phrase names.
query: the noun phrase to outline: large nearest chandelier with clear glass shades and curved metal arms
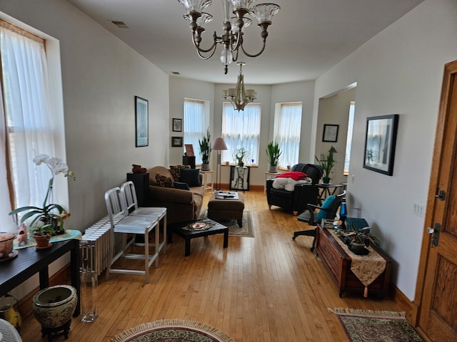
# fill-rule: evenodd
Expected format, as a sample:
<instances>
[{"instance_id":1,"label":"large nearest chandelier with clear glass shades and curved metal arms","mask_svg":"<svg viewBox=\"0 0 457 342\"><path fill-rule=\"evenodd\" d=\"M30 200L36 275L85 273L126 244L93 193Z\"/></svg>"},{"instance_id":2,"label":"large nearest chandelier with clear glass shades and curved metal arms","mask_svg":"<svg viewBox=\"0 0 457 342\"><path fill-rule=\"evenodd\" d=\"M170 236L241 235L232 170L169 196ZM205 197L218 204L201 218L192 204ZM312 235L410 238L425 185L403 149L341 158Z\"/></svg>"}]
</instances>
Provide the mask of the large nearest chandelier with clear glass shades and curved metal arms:
<instances>
[{"instance_id":1,"label":"large nearest chandelier with clear glass shades and curved metal arms","mask_svg":"<svg viewBox=\"0 0 457 342\"><path fill-rule=\"evenodd\" d=\"M256 0L222 0L224 7L224 34L217 36L216 31L213 35L213 45L209 48L201 48L201 33L205 31L205 24L213 21L213 16L203 10L211 5L211 0L178 0L179 3L186 7L184 19L189 20L192 31L192 41L197 53L201 58L209 59L216 52L217 43L221 43L224 49L221 51L221 62L224 64L224 73L227 73L229 64L238 60L238 50L248 57L260 56L265 50L266 37L268 36L268 26L271 25L271 19L281 9L276 4L258 4L252 6ZM231 17L231 14L235 16ZM243 48L243 28L252 24L251 19L245 17L249 14L257 19L258 26L261 28L261 38L263 46L258 53L247 53ZM233 28L233 30L232 30ZM206 56L204 55L206 54Z\"/></svg>"}]
</instances>

